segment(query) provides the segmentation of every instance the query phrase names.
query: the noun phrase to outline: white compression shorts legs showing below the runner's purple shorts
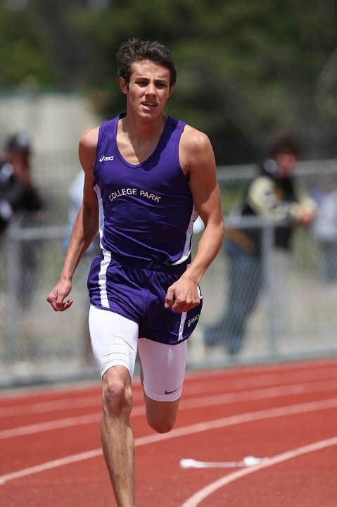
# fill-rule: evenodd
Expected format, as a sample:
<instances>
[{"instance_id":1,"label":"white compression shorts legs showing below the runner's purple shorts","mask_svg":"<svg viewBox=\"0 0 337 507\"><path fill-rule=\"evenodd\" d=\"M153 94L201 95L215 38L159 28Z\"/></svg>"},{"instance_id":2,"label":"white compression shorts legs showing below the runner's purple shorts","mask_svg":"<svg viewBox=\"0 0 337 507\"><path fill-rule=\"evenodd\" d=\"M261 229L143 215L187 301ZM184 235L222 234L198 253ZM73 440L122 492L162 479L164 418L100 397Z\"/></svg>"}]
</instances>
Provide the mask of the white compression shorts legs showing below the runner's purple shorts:
<instances>
[{"instance_id":1,"label":"white compression shorts legs showing below the runner's purple shorts","mask_svg":"<svg viewBox=\"0 0 337 507\"><path fill-rule=\"evenodd\" d=\"M155 401L174 401L182 394L187 340L167 345L138 337L138 324L122 315L90 306L91 345L101 376L121 365L132 380L137 349L144 375L144 392Z\"/></svg>"}]
</instances>

